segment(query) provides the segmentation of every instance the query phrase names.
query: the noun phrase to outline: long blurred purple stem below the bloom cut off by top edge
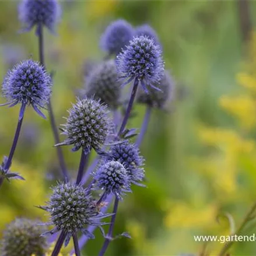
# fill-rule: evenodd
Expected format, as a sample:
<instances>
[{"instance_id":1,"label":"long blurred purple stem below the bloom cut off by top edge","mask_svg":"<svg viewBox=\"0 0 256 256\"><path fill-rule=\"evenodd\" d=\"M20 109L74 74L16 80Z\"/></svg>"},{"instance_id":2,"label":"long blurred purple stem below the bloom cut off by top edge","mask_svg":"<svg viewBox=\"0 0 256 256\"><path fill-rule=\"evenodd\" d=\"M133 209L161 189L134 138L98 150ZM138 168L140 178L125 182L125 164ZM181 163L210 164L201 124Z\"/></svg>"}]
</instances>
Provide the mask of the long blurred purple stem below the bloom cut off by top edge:
<instances>
[{"instance_id":1,"label":"long blurred purple stem below the bloom cut off by top edge","mask_svg":"<svg viewBox=\"0 0 256 256\"><path fill-rule=\"evenodd\" d=\"M46 69L45 62L44 62L43 24L41 24L41 23L38 24L37 34L38 34L38 43L39 43L39 45L38 45L39 61L41 62L41 64ZM49 102L48 102L48 110L49 110L49 115L50 115L51 129L52 129L52 132L54 134L54 141L55 141L55 144L58 144L60 142L60 140L59 140L58 128L57 128L55 118L54 118L54 113L52 111L51 99L49 99ZM61 147L56 147L56 150L57 150L59 166L61 167L62 175L64 176L65 180L68 181L69 180L69 174L68 174L68 171L66 170L66 164L65 164L63 153L62 153L62 149L61 149Z\"/></svg>"}]
</instances>

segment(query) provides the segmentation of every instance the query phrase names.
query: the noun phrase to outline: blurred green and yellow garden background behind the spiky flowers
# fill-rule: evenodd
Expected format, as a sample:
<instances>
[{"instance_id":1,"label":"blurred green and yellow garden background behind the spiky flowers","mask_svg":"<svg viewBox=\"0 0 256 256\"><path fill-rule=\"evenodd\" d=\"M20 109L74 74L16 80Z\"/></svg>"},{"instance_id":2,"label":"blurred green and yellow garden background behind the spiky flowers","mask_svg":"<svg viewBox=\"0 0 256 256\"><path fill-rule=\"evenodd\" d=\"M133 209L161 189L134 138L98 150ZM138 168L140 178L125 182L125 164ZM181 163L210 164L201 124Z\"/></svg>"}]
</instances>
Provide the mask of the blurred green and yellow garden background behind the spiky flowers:
<instances>
[{"instance_id":1,"label":"blurred green and yellow garden background behind the spiky flowers","mask_svg":"<svg viewBox=\"0 0 256 256\"><path fill-rule=\"evenodd\" d=\"M241 2L246 4L241 4ZM13 62L38 59L34 31L17 33L18 1L0 1L0 78ZM229 234L228 212L239 225L256 201L255 1L61 1L57 35L45 30L45 62L54 70L52 103L58 124L83 87L83 63L100 60L99 38L115 19L149 23L163 44L166 68L176 80L170 113L153 111L141 147L147 188L134 188L121 203L115 233L132 239L111 243L107 255L199 255L194 235ZM249 13L246 13L248 5ZM240 86L241 85L241 86ZM3 100L1 102L4 102ZM145 107L129 127L140 127ZM0 155L9 152L18 108L0 109ZM47 220L34 207L47 201L58 162L50 124L26 111L12 169L25 182L0 190L0 231L16 216ZM79 154L64 148L75 176ZM246 234L256 229L246 230ZM0 232L1 234L1 232ZM97 255L103 238L89 241L83 255ZM71 246L71 245L70 245ZM69 247L70 247L69 246ZM208 244L218 255L223 244ZM232 255L256 255L255 243L237 243Z\"/></svg>"}]
</instances>

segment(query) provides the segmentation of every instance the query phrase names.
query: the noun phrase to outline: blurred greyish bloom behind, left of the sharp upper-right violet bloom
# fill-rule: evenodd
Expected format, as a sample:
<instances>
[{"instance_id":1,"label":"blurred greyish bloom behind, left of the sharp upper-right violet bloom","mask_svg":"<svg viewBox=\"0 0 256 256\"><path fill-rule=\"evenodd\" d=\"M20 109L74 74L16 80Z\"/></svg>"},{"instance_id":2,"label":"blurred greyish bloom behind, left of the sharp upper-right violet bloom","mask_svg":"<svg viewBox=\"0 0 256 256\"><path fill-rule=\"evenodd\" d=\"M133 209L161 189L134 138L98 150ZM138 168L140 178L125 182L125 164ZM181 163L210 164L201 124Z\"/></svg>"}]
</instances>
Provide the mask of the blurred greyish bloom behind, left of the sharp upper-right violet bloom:
<instances>
[{"instance_id":1,"label":"blurred greyish bloom behind, left of the sharp upper-right violet bloom","mask_svg":"<svg viewBox=\"0 0 256 256\"><path fill-rule=\"evenodd\" d=\"M86 96L100 99L108 107L115 109L120 104L121 83L113 59L97 66L86 79Z\"/></svg>"}]
</instances>

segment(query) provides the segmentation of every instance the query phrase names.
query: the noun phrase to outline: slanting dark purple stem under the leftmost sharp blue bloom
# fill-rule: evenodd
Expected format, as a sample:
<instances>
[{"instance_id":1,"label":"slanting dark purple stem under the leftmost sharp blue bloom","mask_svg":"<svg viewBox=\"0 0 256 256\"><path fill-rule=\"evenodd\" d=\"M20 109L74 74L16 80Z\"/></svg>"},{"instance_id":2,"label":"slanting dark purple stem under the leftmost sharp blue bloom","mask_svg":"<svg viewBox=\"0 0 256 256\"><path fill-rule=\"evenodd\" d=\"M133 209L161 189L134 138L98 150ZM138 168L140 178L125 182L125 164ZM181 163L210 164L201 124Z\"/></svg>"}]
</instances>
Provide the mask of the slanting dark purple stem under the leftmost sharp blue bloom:
<instances>
[{"instance_id":1,"label":"slanting dark purple stem under the leftmost sharp blue bloom","mask_svg":"<svg viewBox=\"0 0 256 256\"><path fill-rule=\"evenodd\" d=\"M24 114L21 114L21 113L24 113L24 108L26 107L26 104L22 104L22 106L20 107L20 114L19 114L19 121L17 122L17 128L16 128L16 132L15 132L15 136L13 138L13 142L12 142L12 148L10 148L10 153L9 153L9 156L8 156L8 160L5 164L5 170L8 171L9 168L10 168L10 164L12 164L12 158L13 158L13 155L15 153L15 149L16 149L16 146L17 146L17 141L19 139L19 135L20 135L20 130L22 128L22 121L23 121L23 117L24 117ZM0 178L0 187L1 185L3 184L3 177Z\"/></svg>"}]
</instances>

